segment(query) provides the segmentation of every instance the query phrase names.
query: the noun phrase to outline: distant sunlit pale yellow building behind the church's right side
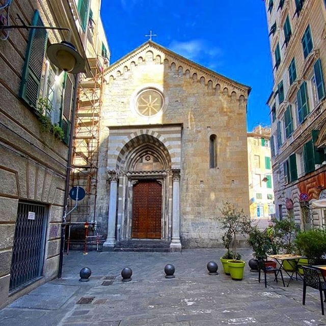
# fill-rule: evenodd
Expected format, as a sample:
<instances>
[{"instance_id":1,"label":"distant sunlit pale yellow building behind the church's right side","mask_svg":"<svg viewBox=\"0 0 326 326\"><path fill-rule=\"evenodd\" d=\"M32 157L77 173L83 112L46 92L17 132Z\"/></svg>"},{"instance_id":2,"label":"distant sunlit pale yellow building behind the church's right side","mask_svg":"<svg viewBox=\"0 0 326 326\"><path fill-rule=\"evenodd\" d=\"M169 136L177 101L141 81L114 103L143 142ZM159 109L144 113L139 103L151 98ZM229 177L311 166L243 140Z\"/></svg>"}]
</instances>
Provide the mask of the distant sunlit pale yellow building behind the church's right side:
<instances>
[{"instance_id":1,"label":"distant sunlit pale yellow building behind the church's right side","mask_svg":"<svg viewBox=\"0 0 326 326\"><path fill-rule=\"evenodd\" d=\"M247 141L250 217L264 229L275 214L270 128L256 126L248 132Z\"/></svg>"}]
</instances>

